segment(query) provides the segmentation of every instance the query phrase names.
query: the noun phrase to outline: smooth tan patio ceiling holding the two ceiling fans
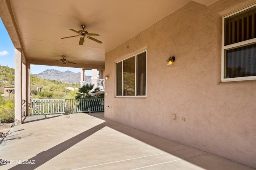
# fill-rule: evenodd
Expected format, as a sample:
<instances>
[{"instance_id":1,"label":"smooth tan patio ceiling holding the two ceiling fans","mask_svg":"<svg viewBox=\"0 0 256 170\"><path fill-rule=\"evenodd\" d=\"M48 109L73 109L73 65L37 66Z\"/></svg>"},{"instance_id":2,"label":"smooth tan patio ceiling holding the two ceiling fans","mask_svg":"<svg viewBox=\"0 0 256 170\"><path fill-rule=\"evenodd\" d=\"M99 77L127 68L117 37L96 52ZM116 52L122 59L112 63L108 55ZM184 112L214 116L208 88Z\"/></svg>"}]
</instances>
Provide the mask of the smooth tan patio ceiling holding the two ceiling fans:
<instances>
[{"instance_id":1,"label":"smooth tan patio ceiling holding the two ceiling fans","mask_svg":"<svg viewBox=\"0 0 256 170\"><path fill-rule=\"evenodd\" d=\"M174 12L190 0L0 0L0 17L26 62L52 66L104 68L105 53ZM194 0L209 5L216 0ZM75 32L86 25L103 43ZM53 60L66 59L77 64Z\"/></svg>"}]
</instances>

